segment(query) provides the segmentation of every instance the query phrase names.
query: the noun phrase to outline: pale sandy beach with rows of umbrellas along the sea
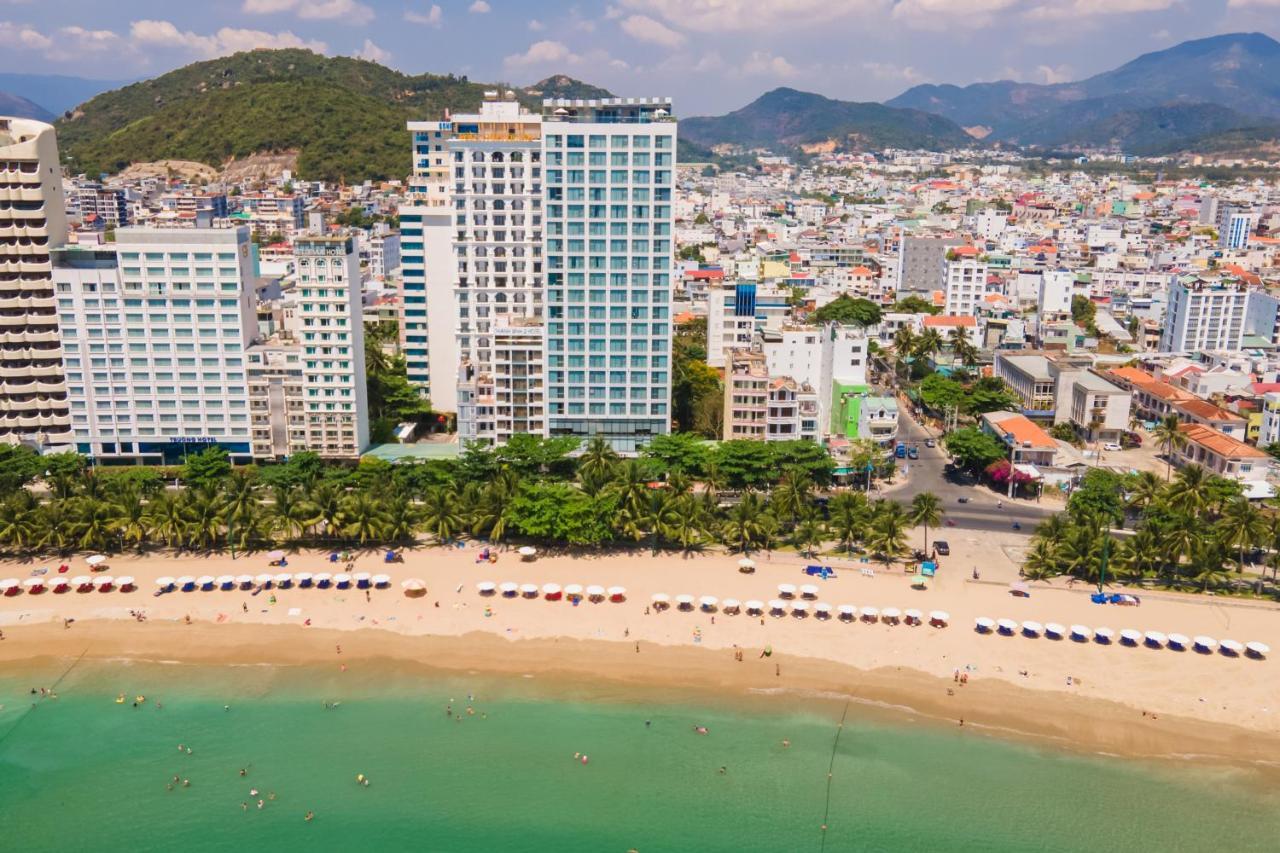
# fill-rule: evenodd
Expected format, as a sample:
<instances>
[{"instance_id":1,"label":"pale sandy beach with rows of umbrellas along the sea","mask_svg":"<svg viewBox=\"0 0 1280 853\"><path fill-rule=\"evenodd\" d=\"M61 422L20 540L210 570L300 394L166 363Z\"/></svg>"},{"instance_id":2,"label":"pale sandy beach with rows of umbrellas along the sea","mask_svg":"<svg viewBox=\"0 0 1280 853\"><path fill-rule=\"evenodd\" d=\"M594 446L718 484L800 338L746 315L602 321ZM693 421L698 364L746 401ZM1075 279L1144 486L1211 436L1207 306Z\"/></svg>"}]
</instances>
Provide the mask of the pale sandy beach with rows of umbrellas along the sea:
<instances>
[{"instance_id":1,"label":"pale sandy beach with rows of umbrellas along the sea","mask_svg":"<svg viewBox=\"0 0 1280 853\"><path fill-rule=\"evenodd\" d=\"M384 566L380 552L357 556L356 570L392 575L390 589L279 589L154 596L161 575L334 571L325 553L289 556L285 570L262 555L119 556L109 574L132 575L132 593L42 593L0 598L0 661L134 657L184 662L416 661L447 670L563 675L618 684L671 685L726 697L800 692L849 695L975 730L1048 738L1064 747L1147 757L1212 757L1253 763L1280 754L1280 678L1275 660L1230 658L1170 649L1126 648L983 635L974 617L1009 617L1119 631L1133 628L1188 637L1257 640L1280 649L1280 608L1170 593L1144 594L1140 607L1098 606L1089 589L1034 584L1015 598L1020 537L947 532L952 556L927 590L901 569L794 553L737 557L648 552L543 556L500 552L477 562L479 548L424 547ZM915 542L913 539L913 542ZM838 578L810 580L808 562ZM26 578L59 561L0 562L0 576ZM979 567L982 579L972 578ZM872 569L868 576L861 569ZM87 574L82 558L70 575ZM399 581L420 578L428 594L408 598ZM627 588L623 603L481 597L476 583L599 584ZM945 610L947 628L845 624L814 617L646 613L650 596L777 597L780 583L814 583L832 606ZM274 603L271 599L274 597ZM142 611L146 621L129 611ZM187 617L192 624L186 624ZM64 620L74 622L64 628ZM337 648L342 647L338 656ZM772 651L762 657L763 649ZM741 649L742 661L736 652ZM1280 653L1280 652L1277 652ZM961 685L956 671L968 676ZM910 711L905 711L908 708Z\"/></svg>"}]
</instances>

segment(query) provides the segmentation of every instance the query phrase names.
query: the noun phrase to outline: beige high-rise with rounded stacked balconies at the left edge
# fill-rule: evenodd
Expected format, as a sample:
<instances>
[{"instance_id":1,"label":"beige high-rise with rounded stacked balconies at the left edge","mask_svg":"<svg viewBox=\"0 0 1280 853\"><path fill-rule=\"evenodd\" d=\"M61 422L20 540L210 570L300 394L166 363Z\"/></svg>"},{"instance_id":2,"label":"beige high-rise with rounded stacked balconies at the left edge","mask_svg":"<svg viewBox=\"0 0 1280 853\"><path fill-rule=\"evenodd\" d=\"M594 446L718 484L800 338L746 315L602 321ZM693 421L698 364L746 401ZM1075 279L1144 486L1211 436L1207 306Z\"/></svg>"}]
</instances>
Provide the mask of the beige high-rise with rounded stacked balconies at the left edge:
<instances>
[{"instance_id":1,"label":"beige high-rise with rounded stacked balconies at the left edge","mask_svg":"<svg viewBox=\"0 0 1280 853\"><path fill-rule=\"evenodd\" d=\"M51 265L65 240L54 128L0 118L0 442L72 443Z\"/></svg>"}]
</instances>

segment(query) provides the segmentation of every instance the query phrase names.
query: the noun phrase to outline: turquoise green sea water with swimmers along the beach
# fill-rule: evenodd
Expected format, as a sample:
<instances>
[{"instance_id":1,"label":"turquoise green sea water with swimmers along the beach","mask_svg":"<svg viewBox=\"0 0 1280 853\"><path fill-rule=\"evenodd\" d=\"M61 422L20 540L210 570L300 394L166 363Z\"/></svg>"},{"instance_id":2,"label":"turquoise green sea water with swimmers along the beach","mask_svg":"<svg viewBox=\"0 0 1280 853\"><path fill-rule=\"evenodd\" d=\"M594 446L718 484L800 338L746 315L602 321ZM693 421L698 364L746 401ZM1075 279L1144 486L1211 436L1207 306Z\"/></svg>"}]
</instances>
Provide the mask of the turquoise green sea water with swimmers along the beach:
<instances>
[{"instance_id":1,"label":"turquoise green sea water with swimmers along the beach","mask_svg":"<svg viewBox=\"0 0 1280 853\"><path fill-rule=\"evenodd\" d=\"M1280 833L1252 774L856 707L833 749L838 702L128 662L79 665L56 699L29 695L67 666L0 674L0 849L1188 852L1270 850ZM191 786L166 790L174 775ZM275 799L259 809L250 788Z\"/></svg>"}]
</instances>

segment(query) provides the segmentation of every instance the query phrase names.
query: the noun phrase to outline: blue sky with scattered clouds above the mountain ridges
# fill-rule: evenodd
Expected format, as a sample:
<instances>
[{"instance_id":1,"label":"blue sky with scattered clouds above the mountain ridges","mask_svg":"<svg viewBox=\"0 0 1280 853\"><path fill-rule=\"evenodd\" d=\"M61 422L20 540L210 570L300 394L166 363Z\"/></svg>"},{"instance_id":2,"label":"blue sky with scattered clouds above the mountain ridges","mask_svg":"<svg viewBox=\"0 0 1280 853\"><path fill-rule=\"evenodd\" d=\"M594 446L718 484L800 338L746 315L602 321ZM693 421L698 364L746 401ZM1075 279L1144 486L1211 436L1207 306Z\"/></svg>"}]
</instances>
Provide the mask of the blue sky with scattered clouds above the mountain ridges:
<instances>
[{"instance_id":1,"label":"blue sky with scattered clouds above the mountain ridges","mask_svg":"<svg viewBox=\"0 0 1280 853\"><path fill-rule=\"evenodd\" d=\"M0 0L0 70L119 79L306 46L485 82L567 73L692 115L776 86L1078 79L1244 29L1280 36L1280 0Z\"/></svg>"}]
</instances>

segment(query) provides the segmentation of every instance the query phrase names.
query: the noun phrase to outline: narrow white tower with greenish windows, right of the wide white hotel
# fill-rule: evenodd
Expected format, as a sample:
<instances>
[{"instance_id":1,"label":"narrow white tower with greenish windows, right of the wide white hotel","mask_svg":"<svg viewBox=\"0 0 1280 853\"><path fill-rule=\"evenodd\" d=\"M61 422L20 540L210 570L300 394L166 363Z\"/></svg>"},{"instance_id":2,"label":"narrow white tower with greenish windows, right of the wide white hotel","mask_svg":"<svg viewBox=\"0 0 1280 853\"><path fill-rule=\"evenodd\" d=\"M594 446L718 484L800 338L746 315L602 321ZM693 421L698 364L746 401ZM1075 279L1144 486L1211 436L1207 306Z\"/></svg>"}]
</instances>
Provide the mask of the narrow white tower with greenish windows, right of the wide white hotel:
<instances>
[{"instance_id":1,"label":"narrow white tower with greenish windows, right of the wide white hotel","mask_svg":"<svg viewBox=\"0 0 1280 853\"><path fill-rule=\"evenodd\" d=\"M355 238L300 237L294 252L306 446L357 457L369 446L369 405Z\"/></svg>"}]
</instances>

